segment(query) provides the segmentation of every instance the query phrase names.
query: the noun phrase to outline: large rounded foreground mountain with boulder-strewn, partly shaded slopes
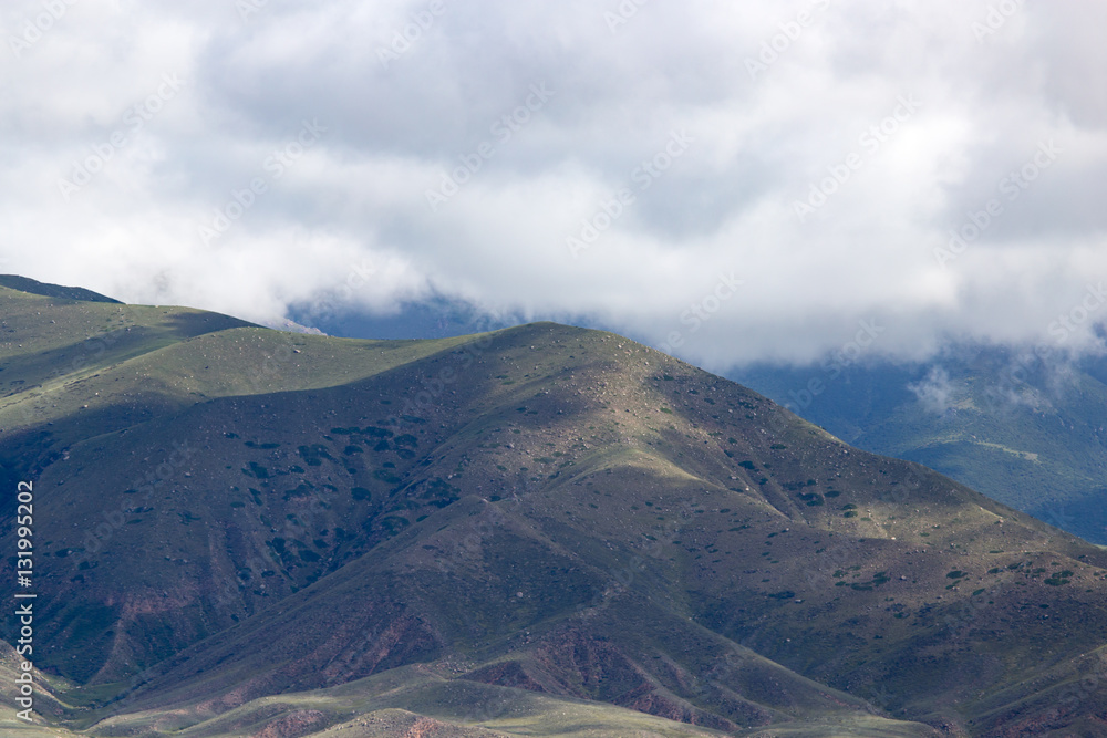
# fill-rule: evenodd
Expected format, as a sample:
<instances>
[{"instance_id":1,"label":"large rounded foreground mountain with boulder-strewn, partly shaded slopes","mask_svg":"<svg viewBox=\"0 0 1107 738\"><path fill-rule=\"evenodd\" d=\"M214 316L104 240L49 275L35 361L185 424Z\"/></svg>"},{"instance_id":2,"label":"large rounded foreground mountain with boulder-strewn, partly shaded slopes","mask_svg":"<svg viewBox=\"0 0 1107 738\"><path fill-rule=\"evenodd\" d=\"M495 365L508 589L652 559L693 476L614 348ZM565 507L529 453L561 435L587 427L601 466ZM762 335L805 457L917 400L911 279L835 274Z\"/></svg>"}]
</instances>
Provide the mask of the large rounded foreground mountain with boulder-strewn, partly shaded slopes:
<instances>
[{"instance_id":1,"label":"large rounded foreground mountain with boulder-strewn, partly shaded slopes","mask_svg":"<svg viewBox=\"0 0 1107 738\"><path fill-rule=\"evenodd\" d=\"M58 735L1101 729L1107 553L618 335L0 318Z\"/></svg>"}]
</instances>

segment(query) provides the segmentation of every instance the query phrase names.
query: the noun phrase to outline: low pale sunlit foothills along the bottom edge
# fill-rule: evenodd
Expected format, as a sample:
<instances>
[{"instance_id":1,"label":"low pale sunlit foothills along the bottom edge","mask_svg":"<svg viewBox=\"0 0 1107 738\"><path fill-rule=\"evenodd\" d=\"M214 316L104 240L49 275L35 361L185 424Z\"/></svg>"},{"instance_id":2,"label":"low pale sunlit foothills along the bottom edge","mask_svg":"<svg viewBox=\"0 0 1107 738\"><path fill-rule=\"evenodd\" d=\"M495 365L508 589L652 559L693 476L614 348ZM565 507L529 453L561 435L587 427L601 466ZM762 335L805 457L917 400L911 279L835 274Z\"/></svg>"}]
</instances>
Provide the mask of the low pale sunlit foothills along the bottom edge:
<instances>
[{"instance_id":1,"label":"low pale sunlit foothills along the bottom edge","mask_svg":"<svg viewBox=\"0 0 1107 738\"><path fill-rule=\"evenodd\" d=\"M404 735L452 738L722 735L933 738L938 735L928 726L848 711L821 720L778 725L772 732L721 732L603 703L449 678L443 675L448 668L448 664L403 667L327 689L250 700L210 717L210 706L204 704L183 706L173 711L173 719L166 719L166 714L157 710L124 714L103 721L95 731L111 735L111 731L142 730L143 735L197 738L258 735L270 726L271 730L300 727L306 730L301 735L328 738ZM175 729L179 732L170 732Z\"/></svg>"}]
</instances>

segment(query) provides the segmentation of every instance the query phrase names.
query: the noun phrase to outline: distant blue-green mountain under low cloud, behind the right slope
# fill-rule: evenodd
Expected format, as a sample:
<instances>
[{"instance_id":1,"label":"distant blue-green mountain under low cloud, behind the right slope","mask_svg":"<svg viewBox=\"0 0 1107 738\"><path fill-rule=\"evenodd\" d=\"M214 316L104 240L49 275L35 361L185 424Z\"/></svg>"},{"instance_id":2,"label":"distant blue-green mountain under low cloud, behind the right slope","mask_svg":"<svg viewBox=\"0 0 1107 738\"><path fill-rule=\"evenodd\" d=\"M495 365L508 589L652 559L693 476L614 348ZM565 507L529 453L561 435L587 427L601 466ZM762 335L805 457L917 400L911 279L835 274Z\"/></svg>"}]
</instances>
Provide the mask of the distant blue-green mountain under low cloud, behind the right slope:
<instances>
[{"instance_id":1,"label":"distant blue-green mountain under low cloud, behind the right slope","mask_svg":"<svg viewBox=\"0 0 1107 738\"><path fill-rule=\"evenodd\" d=\"M850 444L1107 544L1107 356L960 345L919 364L761 364L731 376Z\"/></svg>"}]
</instances>

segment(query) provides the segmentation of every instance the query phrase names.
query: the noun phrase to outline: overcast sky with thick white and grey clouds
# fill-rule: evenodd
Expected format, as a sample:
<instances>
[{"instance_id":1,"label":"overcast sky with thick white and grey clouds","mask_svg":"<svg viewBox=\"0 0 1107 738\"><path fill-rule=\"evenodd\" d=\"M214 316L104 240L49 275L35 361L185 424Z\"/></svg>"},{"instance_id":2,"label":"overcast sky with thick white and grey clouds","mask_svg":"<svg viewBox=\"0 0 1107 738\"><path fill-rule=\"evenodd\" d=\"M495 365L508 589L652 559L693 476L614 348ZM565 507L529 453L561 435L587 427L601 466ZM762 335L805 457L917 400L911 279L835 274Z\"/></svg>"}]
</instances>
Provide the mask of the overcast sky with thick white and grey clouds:
<instances>
[{"instance_id":1,"label":"overcast sky with thick white and grey clouds","mask_svg":"<svg viewBox=\"0 0 1107 738\"><path fill-rule=\"evenodd\" d=\"M716 371L1099 350L1107 3L12 0L0 272Z\"/></svg>"}]
</instances>

